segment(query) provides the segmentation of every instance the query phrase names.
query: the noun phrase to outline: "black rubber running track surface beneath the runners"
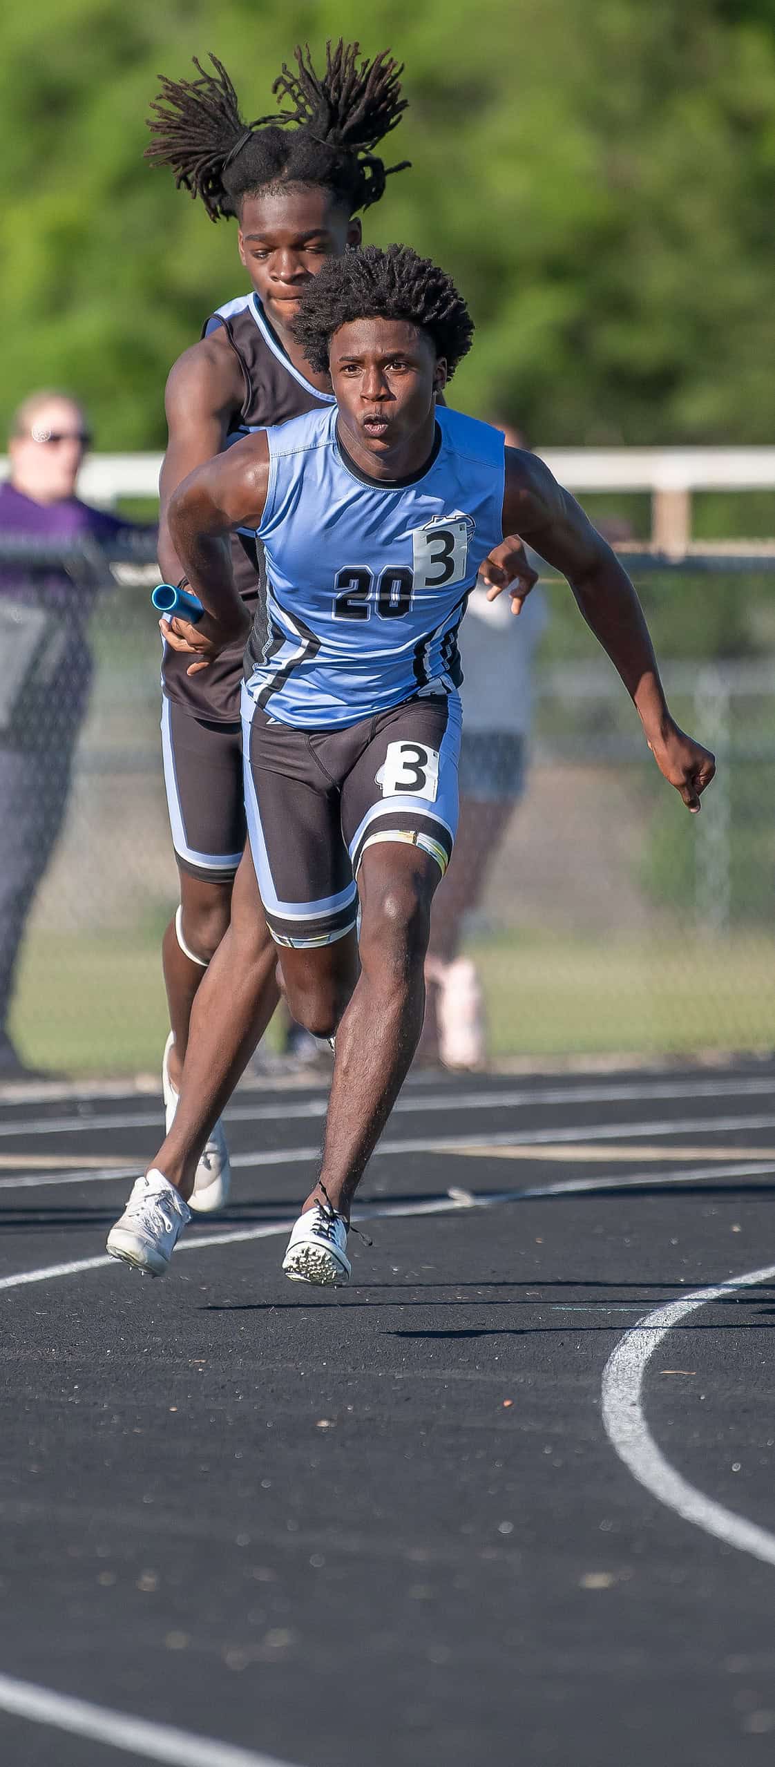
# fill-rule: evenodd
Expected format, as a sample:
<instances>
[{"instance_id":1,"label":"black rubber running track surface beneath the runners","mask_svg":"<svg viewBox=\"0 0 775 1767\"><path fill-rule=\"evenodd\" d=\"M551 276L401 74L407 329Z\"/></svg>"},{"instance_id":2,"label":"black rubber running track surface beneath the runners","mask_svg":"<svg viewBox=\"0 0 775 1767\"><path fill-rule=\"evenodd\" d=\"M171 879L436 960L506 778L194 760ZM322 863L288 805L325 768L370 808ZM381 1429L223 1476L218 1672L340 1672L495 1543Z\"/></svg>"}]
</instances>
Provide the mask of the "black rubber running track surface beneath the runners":
<instances>
[{"instance_id":1,"label":"black rubber running track surface beneath the runners","mask_svg":"<svg viewBox=\"0 0 775 1767\"><path fill-rule=\"evenodd\" d=\"M281 1274L325 1090L240 1090L233 1202L164 1281L0 1288L0 1684L291 1767L771 1762L775 1569L637 1484L600 1417L636 1320L775 1263L771 1083L422 1076L335 1292ZM97 1258L159 1120L2 1103L0 1279ZM703 1308L644 1387L671 1465L763 1528L773 1325L766 1283ZM0 1709L4 1767L122 1758L150 1756Z\"/></svg>"}]
</instances>

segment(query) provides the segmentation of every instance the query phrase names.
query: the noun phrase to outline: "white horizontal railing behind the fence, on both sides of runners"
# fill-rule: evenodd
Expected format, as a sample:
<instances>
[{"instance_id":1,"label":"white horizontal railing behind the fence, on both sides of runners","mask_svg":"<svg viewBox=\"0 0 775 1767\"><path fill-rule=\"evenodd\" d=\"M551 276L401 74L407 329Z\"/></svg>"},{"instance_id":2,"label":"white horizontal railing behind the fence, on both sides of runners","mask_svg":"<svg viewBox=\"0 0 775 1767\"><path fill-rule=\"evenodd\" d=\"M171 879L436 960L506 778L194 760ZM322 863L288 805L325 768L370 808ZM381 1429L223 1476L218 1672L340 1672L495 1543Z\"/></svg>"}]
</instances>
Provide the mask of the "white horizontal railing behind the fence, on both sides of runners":
<instances>
[{"instance_id":1,"label":"white horizontal railing behind the fence, on both sides of runners","mask_svg":"<svg viewBox=\"0 0 775 1767\"><path fill-rule=\"evenodd\" d=\"M570 491L646 491L651 541L680 557L692 537L692 491L775 489L775 447L549 447L537 449ZM161 454L92 454L79 493L87 502L155 497ZM7 459L0 458L0 477ZM775 534L775 507L773 507Z\"/></svg>"}]
</instances>

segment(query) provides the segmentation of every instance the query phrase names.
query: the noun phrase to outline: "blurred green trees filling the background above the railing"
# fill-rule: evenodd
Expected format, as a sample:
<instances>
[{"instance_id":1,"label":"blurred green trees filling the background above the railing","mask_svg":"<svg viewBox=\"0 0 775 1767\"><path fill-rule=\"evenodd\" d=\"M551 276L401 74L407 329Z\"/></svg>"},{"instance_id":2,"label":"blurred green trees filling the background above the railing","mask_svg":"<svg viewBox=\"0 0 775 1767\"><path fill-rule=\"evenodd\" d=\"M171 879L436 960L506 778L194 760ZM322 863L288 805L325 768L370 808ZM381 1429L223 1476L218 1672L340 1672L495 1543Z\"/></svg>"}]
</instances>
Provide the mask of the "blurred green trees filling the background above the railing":
<instances>
[{"instance_id":1,"label":"blurred green trees filling the background above the railing","mask_svg":"<svg viewBox=\"0 0 775 1767\"><path fill-rule=\"evenodd\" d=\"M162 387L245 286L143 163L157 72L214 49L247 117L293 41L364 35L341 0L9 0L0 34L2 413L85 396L102 447L162 442ZM411 108L367 217L461 281L480 327L455 399L540 444L766 442L773 359L771 0L372 0L364 48Z\"/></svg>"}]
</instances>

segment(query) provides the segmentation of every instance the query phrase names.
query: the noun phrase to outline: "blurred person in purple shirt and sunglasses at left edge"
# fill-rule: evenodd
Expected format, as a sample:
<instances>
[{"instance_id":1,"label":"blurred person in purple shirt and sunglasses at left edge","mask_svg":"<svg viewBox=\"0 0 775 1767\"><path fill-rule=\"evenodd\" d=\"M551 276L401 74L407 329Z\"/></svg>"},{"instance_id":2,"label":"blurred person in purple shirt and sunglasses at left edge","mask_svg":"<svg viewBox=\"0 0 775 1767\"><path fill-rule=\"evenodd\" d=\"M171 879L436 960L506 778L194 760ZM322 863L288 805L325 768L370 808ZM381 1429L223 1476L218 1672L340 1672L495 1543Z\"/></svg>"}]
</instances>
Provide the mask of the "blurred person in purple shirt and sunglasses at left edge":
<instances>
[{"instance_id":1,"label":"blurred person in purple shirt and sunglasses at left edge","mask_svg":"<svg viewBox=\"0 0 775 1767\"><path fill-rule=\"evenodd\" d=\"M11 422L0 542L109 542L129 523L76 497L90 445L83 406L32 392ZM87 638L97 578L0 558L0 1080L28 1074L9 1037L16 961L37 885L62 829L72 751L92 679Z\"/></svg>"}]
</instances>

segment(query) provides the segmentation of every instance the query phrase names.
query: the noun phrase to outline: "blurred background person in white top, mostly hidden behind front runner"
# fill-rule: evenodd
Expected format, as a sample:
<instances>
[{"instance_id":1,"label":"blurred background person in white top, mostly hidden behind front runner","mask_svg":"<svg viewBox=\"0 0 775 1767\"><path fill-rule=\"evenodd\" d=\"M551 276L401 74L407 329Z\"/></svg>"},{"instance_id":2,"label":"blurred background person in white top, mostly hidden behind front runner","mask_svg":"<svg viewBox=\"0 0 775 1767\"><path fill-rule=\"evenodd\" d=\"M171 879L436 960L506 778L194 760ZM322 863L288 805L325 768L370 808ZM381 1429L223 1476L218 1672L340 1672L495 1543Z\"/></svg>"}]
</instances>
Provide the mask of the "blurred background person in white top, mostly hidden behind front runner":
<instances>
[{"instance_id":1,"label":"blurred background person in white top, mostly hidden behind front runner","mask_svg":"<svg viewBox=\"0 0 775 1767\"><path fill-rule=\"evenodd\" d=\"M507 447L524 436L500 417ZM531 560L535 562L535 560ZM491 868L524 792L531 723L533 652L547 618L535 587L521 613L508 592L487 601L478 583L461 629L463 742L461 820L455 853L431 914L425 959L425 1023L418 1060L445 1067L480 1067L485 1048L482 990L471 958L461 956L466 915L482 901Z\"/></svg>"}]
</instances>

